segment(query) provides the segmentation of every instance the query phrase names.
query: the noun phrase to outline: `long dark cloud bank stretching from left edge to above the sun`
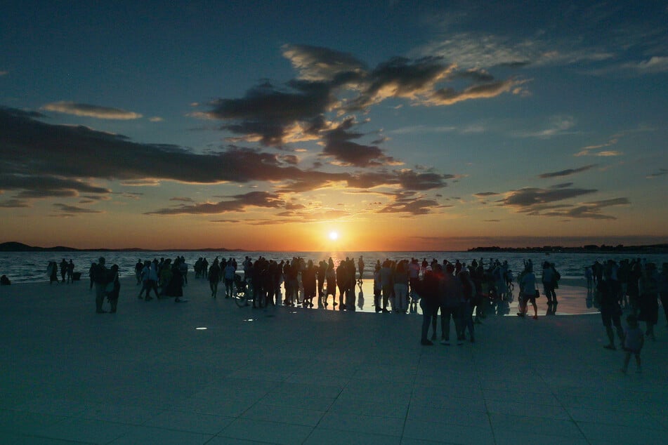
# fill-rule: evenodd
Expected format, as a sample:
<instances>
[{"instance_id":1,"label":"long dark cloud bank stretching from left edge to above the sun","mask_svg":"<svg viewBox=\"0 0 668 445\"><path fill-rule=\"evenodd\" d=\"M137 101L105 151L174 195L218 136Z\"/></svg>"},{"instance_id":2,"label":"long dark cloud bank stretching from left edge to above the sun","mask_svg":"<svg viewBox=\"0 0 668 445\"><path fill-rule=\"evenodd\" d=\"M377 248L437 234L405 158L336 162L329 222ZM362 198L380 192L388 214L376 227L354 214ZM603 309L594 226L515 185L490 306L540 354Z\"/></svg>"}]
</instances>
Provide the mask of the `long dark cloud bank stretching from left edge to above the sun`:
<instances>
[{"instance_id":1,"label":"long dark cloud bank stretching from left edge to above the sun","mask_svg":"<svg viewBox=\"0 0 668 445\"><path fill-rule=\"evenodd\" d=\"M369 189L404 187L428 190L445 187L456 178L434 171L329 172L303 170L294 159L249 148L229 146L199 154L175 145L147 144L122 135L83 126L46 124L41 114L0 107L0 190L24 190L41 196L77 193L110 194L92 180L119 180L123 185L159 185L162 180L217 184L261 181L284 192L317 190L336 184ZM336 143L353 142L355 133L334 133L332 157L348 164L393 164L379 147L358 144L363 157L341 150ZM337 151L338 150L338 151ZM72 161L76 159L76 161Z\"/></svg>"}]
</instances>

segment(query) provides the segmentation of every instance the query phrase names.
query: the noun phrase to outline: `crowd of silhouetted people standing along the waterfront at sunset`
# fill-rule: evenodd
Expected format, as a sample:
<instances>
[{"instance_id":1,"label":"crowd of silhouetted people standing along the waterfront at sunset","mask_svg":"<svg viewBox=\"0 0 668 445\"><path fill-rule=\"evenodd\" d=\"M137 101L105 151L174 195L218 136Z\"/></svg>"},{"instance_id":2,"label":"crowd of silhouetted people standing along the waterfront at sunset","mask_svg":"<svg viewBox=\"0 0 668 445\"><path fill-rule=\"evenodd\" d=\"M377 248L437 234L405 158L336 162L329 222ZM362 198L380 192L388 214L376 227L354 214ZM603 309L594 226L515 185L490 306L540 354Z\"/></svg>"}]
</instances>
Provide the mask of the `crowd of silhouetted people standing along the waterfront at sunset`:
<instances>
[{"instance_id":1,"label":"crowd of silhouetted people standing along the waterfront at sunset","mask_svg":"<svg viewBox=\"0 0 668 445\"><path fill-rule=\"evenodd\" d=\"M373 306L376 312L394 312L398 314L415 312L419 304L423 314L421 344L433 345L438 338L438 320L440 318L440 341L450 344L450 331L454 327L457 343L475 341L475 324L485 318L490 307L499 307L513 300L516 284L518 292L518 316L525 317L532 307L532 318L537 319L536 298L540 295L538 284L542 284L543 294L547 299L548 313L554 313L558 304L556 289L561 274L554 263L542 264L540 281L534 272L530 260L525 261L524 269L517 277L509 269L507 261L490 259L487 263L481 258L469 265L459 260L439 263L435 258L428 262L386 259L377 260L369 279L373 280ZM61 263L61 280L69 281L72 261ZM65 271L64 274L62 271ZM365 277L365 262L360 256L357 261L346 258L339 261L306 260L294 257L292 260L267 260L259 257L251 260L244 258L241 265L235 258L215 258L209 265L206 258L199 258L195 265L195 278L207 279L211 288L211 298L217 298L218 284L225 288L225 298L233 298L239 292L252 300L253 307L266 306L301 306L305 308L329 307L355 311L356 286L361 290ZM49 273L58 271L55 263ZM137 284L140 285L138 298L150 301L155 298L175 298L183 300L183 286L188 284L188 264L185 258L174 260L139 260L135 267ZM112 310L117 309L119 293L118 266L107 270L104 258L93 263L90 270L91 288L96 286L96 311L103 313L105 298L110 301ZM601 311L609 343L605 345L615 350L615 335L620 345L629 354L636 354L640 363L637 336L627 331L637 327L638 321L644 321L644 336L654 340L654 326L658 319L657 297L662 301L668 320L668 263L658 271L653 263L638 260L622 260L619 264L608 260L601 264L594 263L585 270L588 298L594 300ZM58 277L54 281L58 281ZM151 296L151 293L154 296ZM329 299L331 295L331 300ZM338 298L337 298L338 297ZM621 318L624 310L629 311L627 328L622 328ZM438 317L440 313L440 317ZM507 313L507 312L506 312ZM474 317L475 314L475 317ZM451 324L452 321L452 324ZM613 329L613 326L615 329ZM431 331L431 336L429 333ZM635 332L635 331L633 331ZM639 346L638 346L639 345ZM629 355L630 357L630 355ZM627 357L627 363L629 361ZM627 365L624 365L626 369Z\"/></svg>"}]
</instances>

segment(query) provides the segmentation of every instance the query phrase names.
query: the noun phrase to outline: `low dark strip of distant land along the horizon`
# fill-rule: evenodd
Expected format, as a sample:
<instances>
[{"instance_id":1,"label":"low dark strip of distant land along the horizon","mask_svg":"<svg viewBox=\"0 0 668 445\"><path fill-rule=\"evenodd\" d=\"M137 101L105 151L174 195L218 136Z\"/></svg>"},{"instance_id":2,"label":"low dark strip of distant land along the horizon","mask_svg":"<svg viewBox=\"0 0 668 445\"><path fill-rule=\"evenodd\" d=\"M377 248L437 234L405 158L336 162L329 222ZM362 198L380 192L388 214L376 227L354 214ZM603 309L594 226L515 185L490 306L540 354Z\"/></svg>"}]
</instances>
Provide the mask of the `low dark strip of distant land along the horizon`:
<instances>
[{"instance_id":1,"label":"low dark strip of distant land along the horizon","mask_svg":"<svg viewBox=\"0 0 668 445\"><path fill-rule=\"evenodd\" d=\"M67 246L54 247L39 247L28 246L16 241L0 243L0 252L254 252L242 248L74 248ZM402 251L395 251L402 252ZM427 252L427 251L425 251ZM443 251L431 251L443 252ZM468 252L468 253L626 253L626 254L646 254L646 253L668 253L668 244L648 244L643 246L606 246L601 244L589 244L579 247L563 247L563 246L542 246L542 247L499 247L499 246L485 246L469 248L467 251L452 251L452 252Z\"/></svg>"}]
</instances>

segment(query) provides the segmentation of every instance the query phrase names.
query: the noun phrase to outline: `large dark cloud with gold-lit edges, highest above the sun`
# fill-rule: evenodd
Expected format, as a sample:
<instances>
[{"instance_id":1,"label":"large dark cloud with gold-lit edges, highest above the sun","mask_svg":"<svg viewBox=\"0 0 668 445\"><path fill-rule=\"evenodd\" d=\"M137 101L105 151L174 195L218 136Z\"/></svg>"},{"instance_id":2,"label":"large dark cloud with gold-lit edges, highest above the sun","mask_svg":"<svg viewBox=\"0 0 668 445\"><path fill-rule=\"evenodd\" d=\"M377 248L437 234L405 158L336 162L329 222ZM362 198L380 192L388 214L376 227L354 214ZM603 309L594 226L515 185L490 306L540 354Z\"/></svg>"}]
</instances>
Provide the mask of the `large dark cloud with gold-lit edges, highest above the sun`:
<instances>
[{"instance_id":1,"label":"large dark cloud with gold-lit edges, highest above the sun","mask_svg":"<svg viewBox=\"0 0 668 445\"><path fill-rule=\"evenodd\" d=\"M348 53L305 45L283 46L283 55L298 78L276 86L269 81L249 89L242 98L221 98L195 117L223 121L222 130L237 136L230 142L260 142L282 147L287 142L323 138L341 124L328 115L367 111L390 98L412 105L452 105L463 100L520 93L521 79L495 80L484 69L457 70L443 58L390 58L373 69ZM462 91L443 84L468 83ZM351 163L355 165L355 162Z\"/></svg>"}]
</instances>

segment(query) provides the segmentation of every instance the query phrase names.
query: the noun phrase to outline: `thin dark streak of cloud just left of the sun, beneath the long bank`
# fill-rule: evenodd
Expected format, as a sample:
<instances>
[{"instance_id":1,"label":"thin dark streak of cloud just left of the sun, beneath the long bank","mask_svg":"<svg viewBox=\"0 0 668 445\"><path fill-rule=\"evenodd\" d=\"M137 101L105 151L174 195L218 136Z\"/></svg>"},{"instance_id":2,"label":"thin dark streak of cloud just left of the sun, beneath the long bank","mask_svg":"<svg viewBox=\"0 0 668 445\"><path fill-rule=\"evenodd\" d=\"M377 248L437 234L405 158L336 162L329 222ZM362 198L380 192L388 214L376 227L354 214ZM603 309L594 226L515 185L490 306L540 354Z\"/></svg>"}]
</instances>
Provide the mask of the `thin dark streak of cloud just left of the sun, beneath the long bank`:
<instances>
[{"instance_id":1,"label":"thin dark streak of cloud just left of the sun, beneath the long bank","mask_svg":"<svg viewBox=\"0 0 668 445\"><path fill-rule=\"evenodd\" d=\"M206 215L213 213L243 212L248 207L280 208L284 201L277 194L268 192L249 192L237 194L228 201L217 203L202 203L192 205L181 205L176 208L162 208L157 211L148 212L148 215L181 215L184 213L194 215Z\"/></svg>"}]
</instances>

